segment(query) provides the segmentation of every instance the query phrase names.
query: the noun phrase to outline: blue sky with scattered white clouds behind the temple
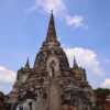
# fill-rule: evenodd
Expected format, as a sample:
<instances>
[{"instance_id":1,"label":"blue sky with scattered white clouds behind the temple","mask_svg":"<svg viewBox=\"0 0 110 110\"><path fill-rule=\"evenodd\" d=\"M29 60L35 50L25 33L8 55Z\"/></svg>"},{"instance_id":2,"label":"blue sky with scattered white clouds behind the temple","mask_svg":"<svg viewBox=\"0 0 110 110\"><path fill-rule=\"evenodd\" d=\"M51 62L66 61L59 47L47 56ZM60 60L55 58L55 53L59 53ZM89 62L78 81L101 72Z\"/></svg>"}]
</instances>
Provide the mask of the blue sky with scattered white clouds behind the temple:
<instances>
[{"instance_id":1,"label":"blue sky with scattered white clouds behind the temple","mask_svg":"<svg viewBox=\"0 0 110 110\"><path fill-rule=\"evenodd\" d=\"M10 91L28 56L33 67L52 9L68 59L76 56L94 88L110 88L110 0L1 0L0 91Z\"/></svg>"}]
</instances>

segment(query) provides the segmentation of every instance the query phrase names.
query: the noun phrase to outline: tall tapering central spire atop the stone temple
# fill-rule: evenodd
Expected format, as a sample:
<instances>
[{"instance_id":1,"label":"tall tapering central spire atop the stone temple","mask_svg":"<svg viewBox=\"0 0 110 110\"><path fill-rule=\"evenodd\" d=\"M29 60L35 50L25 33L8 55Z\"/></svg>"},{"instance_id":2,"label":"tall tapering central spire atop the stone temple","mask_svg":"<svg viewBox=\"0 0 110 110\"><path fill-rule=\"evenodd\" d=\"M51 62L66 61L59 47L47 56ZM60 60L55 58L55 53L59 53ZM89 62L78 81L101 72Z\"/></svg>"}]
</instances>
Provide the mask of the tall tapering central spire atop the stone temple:
<instances>
[{"instance_id":1,"label":"tall tapering central spire atop the stone temple","mask_svg":"<svg viewBox=\"0 0 110 110\"><path fill-rule=\"evenodd\" d=\"M50 19L50 24L48 24L48 30L47 30L47 35L46 35L46 40L47 41L53 41L53 40L57 40L56 37L56 30L55 30L55 22L54 22L54 14L53 14L53 10L51 13L51 19Z\"/></svg>"}]
</instances>

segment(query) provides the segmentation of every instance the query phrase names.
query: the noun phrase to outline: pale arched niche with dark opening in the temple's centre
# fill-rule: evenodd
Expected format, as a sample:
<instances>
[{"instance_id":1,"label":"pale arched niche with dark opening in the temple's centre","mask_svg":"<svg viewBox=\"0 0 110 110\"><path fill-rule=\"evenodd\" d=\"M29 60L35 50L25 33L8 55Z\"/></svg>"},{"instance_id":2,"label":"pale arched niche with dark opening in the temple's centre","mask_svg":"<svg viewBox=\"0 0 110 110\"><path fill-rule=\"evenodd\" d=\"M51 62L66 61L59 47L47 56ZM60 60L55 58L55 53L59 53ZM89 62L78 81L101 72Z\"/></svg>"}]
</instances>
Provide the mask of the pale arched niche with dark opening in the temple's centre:
<instances>
[{"instance_id":1,"label":"pale arched niche with dark opening in the temple's centre","mask_svg":"<svg viewBox=\"0 0 110 110\"><path fill-rule=\"evenodd\" d=\"M56 56L50 56L47 59L47 72L50 77L57 77L59 74L59 62Z\"/></svg>"}]
</instances>

